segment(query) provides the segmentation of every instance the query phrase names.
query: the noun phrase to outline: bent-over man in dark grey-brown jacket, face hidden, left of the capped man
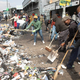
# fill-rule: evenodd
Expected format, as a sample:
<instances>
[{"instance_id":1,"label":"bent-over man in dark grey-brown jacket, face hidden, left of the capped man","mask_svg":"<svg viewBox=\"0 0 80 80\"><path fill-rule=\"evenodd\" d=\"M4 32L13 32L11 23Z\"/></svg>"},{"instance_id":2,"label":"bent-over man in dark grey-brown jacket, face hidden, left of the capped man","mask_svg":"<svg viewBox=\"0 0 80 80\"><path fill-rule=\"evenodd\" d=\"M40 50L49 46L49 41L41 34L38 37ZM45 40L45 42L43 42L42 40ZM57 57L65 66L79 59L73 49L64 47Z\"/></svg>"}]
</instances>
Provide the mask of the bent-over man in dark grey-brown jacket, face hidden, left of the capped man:
<instances>
[{"instance_id":1,"label":"bent-over man in dark grey-brown jacket, face hidden, left of the capped man","mask_svg":"<svg viewBox=\"0 0 80 80\"><path fill-rule=\"evenodd\" d=\"M64 32L65 32L65 30L68 29L68 27L64 24L64 22L62 21L61 18L58 18L58 16L56 14L53 15L53 21L55 22L55 25L54 25L55 31L59 35L59 45L60 45L66 38L65 35L64 35L65 34ZM63 52L63 50L64 49L62 49L62 48L59 49L60 52L61 51Z\"/></svg>"}]
</instances>

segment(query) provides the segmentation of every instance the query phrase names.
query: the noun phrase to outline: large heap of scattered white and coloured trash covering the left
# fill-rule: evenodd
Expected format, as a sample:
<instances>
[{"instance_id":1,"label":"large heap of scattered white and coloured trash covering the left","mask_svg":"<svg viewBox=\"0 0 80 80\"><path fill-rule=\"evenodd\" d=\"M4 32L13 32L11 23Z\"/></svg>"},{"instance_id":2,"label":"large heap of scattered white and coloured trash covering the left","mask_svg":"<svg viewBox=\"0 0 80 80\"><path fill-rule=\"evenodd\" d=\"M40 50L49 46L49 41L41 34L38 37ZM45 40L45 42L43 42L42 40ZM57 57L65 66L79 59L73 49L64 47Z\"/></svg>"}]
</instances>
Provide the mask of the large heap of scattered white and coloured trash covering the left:
<instances>
[{"instance_id":1,"label":"large heap of scattered white and coloured trash covering the left","mask_svg":"<svg viewBox=\"0 0 80 80\"><path fill-rule=\"evenodd\" d=\"M9 25L2 26L0 25L0 80L53 80L56 69L30 66L32 61L27 53L21 52L22 46L12 40L14 36L9 34ZM59 74L63 75L63 70Z\"/></svg>"}]
</instances>

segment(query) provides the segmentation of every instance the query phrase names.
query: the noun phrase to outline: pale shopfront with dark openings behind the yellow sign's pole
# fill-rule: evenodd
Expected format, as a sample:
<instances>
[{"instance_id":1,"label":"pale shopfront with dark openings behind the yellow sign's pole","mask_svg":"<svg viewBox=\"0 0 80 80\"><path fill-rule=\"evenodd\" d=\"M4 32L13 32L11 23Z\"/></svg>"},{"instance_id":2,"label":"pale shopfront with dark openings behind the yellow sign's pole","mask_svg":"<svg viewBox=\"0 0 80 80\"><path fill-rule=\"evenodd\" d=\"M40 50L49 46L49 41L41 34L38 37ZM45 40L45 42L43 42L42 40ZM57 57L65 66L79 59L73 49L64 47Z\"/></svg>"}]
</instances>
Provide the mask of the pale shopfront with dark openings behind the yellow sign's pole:
<instances>
[{"instance_id":1,"label":"pale shopfront with dark openings behind the yellow sign's pole","mask_svg":"<svg viewBox=\"0 0 80 80\"><path fill-rule=\"evenodd\" d=\"M63 7L59 5L59 0L49 0L50 3L45 5L43 8L43 13L46 15L47 19L52 18L52 15L58 13L62 17ZM76 12L77 6L79 5L80 0L71 0L69 6L66 6L66 12L69 12L72 15Z\"/></svg>"}]
</instances>

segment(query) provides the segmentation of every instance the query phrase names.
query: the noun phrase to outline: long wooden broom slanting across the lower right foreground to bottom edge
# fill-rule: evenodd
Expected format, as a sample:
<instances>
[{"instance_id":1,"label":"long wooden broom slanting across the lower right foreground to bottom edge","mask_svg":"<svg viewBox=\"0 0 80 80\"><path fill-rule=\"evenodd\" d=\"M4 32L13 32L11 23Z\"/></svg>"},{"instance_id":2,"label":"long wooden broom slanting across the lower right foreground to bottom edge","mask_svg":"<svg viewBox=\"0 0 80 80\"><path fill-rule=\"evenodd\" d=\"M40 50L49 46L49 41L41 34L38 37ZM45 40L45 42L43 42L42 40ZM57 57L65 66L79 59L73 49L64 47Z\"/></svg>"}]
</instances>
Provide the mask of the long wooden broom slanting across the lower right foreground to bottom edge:
<instances>
[{"instance_id":1,"label":"long wooden broom slanting across the lower right foreground to bottom edge","mask_svg":"<svg viewBox=\"0 0 80 80\"><path fill-rule=\"evenodd\" d=\"M75 33L75 35L74 35L74 38L72 39L72 41L71 41L71 43L70 43L70 46L73 44L73 41L74 41L74 39L75 39L77 33L78 33L78 30L76 31L76 33ZM62 59L60 65L57 67L57 71L56 71L55 74L54 74L54 80L56 80L56 78L57 78L57 76L58 76L58 72L59 72L59 70L60 70L60 68L61 68L61 65L62 65L62 63L63 63L65 57L67 56L68 52L69 52L69 50L67 50L67 52L65 53L65 55L64 55L64 57L63 57L63 59Z\"/></svg>"}]
</instances>

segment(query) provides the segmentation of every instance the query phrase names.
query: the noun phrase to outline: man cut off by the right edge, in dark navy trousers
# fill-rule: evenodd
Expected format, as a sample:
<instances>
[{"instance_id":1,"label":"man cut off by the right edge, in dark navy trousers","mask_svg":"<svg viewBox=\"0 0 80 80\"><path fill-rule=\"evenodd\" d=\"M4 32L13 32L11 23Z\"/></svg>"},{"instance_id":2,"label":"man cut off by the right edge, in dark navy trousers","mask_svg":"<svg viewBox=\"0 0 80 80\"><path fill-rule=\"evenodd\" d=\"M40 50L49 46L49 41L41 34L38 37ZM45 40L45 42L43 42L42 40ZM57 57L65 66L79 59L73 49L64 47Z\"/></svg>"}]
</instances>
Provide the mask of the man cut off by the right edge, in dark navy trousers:
<instances>
[{"instance_id":1,"label":"man cut off by the right edge, in dark navy trousers","mask_svg":"<svg viewBox=\"0 0 80 80\"><path fill-rule=\"evenodd\" d=\"M80 6L78 6L78 8L77 8L77 12L78 12L78 17L80 19ZM67 64L68 69L72 68L72 65L73 65L73 63L77 57L80 60L80 52L78 52L79 47L80 47L80 22L78 24L78 34L77 34L76 38L77 38L76 43L73 44L72 46L68 47L68 49L72 49L70 59L69 59L69 62Z\"/></svg>"}]
</instances>

